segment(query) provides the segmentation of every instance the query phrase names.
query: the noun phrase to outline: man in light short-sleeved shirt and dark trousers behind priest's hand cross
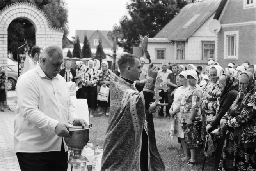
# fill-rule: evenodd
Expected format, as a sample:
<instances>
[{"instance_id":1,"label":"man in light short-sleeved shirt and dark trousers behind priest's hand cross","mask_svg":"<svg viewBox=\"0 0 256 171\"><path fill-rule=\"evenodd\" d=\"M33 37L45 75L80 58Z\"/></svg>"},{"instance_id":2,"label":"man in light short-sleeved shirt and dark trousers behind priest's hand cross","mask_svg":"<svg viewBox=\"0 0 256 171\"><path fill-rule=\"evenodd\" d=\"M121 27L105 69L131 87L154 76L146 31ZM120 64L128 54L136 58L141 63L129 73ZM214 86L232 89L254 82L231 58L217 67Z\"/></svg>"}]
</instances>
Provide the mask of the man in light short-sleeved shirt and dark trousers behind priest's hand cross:
<instances>
[{"instance_id":1,"label":"man in light short-sleeved shirt and dark trousers behind priest's hand cross","mask_svg":"<svg viewBox=\"0 0 256 171\"><path fill-rule=\"evenodd\" d=\"M159 70L159 72L158 72L158 75L160 75L160 78L163 80L163 82L160 83L160 86L164 86L164 84L167 84L167 77L168 77L168 75L169 75L170 73L172 73L171 70L167 69L167 65L168 65L167 62L164 62L164 63L162 64L162 68L163 68L163 69L162 69L162 70ZM162 97L162 99L159 100L160 103L164 103L164 101L165 101L166 104L169 103L169 101L168 101L168 91L167 91L167 92L164 92L164 91L160 90L159 96ZM165 111L166 111L166 117L170 116L168 107L166 108ZM160 117L163 117L163 116L164 116L164 109L163 109L163 108L161 108L161 110L160 110L160 112L158 113L158 115L159 115Z\"/></svg>"}]
</instances>

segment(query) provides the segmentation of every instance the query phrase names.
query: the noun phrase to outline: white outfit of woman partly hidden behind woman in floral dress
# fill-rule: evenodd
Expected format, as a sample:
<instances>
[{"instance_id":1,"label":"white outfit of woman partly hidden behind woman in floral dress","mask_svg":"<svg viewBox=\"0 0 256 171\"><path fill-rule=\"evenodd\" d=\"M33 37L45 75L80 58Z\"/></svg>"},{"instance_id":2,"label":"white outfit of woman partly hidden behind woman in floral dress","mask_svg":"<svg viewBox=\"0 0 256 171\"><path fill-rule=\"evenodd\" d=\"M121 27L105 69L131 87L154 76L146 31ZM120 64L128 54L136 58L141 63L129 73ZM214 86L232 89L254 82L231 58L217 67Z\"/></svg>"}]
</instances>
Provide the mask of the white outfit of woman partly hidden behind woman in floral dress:
<instances>
[{"instance_id":1,"label":"white outfit of woman partly hidden behind woman in floral dress","mask_svg":"<svg viewBox=\"0 0 256 171\"><path fill-rule=\"evenodd\" d=\"M184 138L184 133L181 129L182 124L180 123L181 120L181 113L180 113L180 103L181 103L181 98L182 95L185 91L189 89L189 86L186 89L182 89L183 86L179 87L176 89L174 96L173 96L173 111L177 111L176 114L176 119L175 119L175 124L174 124L174 135L180 138Z\"/></svg>"}]
</instances>

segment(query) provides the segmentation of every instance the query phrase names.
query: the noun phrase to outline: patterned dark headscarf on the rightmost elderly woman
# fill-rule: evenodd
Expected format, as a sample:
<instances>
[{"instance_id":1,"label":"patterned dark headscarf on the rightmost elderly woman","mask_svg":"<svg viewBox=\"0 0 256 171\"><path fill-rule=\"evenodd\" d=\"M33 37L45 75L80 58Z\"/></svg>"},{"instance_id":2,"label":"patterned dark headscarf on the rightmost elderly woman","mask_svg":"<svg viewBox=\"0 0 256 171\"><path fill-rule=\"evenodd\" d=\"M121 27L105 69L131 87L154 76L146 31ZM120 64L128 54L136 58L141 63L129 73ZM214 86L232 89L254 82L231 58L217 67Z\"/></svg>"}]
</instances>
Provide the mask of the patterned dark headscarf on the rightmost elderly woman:
<instances>
[{"instance_id":1,"label":"patterned dark headscarf on the rightmost elderly woman","mask_svg":"<svg viewBox=\"0 0 256 171\"><path fill-rule=\"evenodd\" d=\"M240 75L242 75L242 74L245 74L245 75L248 76L248 78L249 78L248 86L247 86L247 90L245 92L242 92L240 87L239 87L238 98L236 98L235 105L237 104L238 100L241 99L241 98L244 98L242 103L245 105L247 99L250 97L250 95L256 89L256 85L255 85L255 81L254 81L254 77L253 77L252 73L250 73L250 72L242 72L242 73L240 73ZM239 84L239 81L238 81L238 84Z\"/></svg>"}]
</instances>

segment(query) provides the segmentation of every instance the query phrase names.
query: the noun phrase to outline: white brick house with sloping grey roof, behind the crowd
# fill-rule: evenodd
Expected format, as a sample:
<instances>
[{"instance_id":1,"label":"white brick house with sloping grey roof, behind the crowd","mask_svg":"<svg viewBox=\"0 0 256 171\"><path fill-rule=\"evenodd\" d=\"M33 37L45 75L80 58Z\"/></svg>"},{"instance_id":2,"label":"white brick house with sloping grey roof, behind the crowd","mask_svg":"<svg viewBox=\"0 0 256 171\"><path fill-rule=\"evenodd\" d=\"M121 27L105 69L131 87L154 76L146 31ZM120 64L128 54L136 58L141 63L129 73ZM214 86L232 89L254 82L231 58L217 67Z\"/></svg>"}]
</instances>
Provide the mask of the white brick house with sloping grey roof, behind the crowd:
<instances>
[{"instance_id":1,"label":"white brick house with sloping grey roof, behind the crowd","mask_svg":"<svg viewBox=\"0 0 256 171\"><path fill-rule=\"evenodd\" d=\"M148 52L156 66L162 62L187 66L206 66L214 58L216 35L208 24L215 16L221 0L190 3L180 10L154 38L148 40Z\"/></svg>"}]
</instances>

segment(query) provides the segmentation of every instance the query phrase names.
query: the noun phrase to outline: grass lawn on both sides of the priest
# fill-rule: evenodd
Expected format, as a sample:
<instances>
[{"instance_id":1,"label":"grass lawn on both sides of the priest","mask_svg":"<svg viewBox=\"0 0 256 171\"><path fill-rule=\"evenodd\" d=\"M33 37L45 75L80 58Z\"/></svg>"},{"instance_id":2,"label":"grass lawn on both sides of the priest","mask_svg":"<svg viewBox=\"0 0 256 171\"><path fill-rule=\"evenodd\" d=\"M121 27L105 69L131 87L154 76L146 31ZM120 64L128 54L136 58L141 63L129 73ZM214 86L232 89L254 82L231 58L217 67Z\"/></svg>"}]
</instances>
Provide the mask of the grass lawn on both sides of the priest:
<instances>
[{"instance_id":1,"label":"grass lawn on both sides of the priest","mask_svg":"<svg viewBox=\"0 0 256 171\"><path fill-rule=\"evenodd\" d=\"M183 154L183 150L180 148L178 139L175 137L171 140L168 136L170 119L154 117L156 143L160 155L164 161L166 171L191 171L202 170L203 156L199 155L198 164L193 169L186 165L186 162L182 162L179 159L182 158L178 155ZM90 130L91 142L103 145L105 133L108 127L108 117L93 117L90 118L92 123L92 129ZM214 162L205 164L204 171L212 171L214 168Z\"/></svg>"}]
</instances>

